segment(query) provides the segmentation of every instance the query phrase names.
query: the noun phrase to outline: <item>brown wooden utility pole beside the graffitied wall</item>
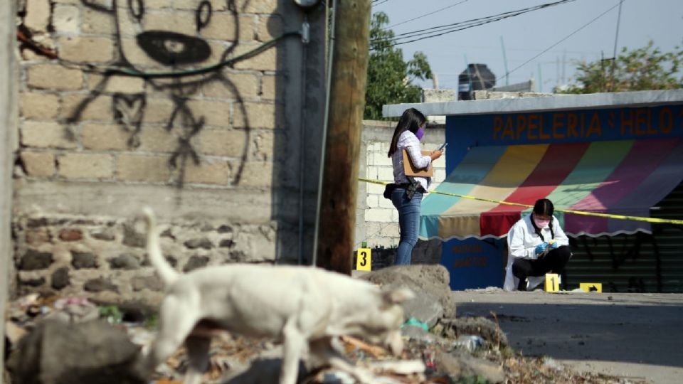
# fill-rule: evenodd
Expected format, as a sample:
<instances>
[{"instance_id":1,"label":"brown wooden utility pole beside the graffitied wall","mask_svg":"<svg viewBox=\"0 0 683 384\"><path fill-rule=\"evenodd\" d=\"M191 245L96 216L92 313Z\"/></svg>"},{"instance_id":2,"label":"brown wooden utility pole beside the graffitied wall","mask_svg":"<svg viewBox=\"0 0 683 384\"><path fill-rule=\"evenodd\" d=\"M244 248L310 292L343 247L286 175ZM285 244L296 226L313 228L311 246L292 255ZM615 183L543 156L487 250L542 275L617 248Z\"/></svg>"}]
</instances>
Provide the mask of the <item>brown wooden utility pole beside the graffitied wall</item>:
<instances>
[{"instance_id":1,"label":"brown wooden utility pole beside the graffitied wall","mask_svg":"<svg viewBox=\"0 0 683 384\"><path fill-rule=\"evenodd\" d=\"M370 0L334 1L327 139L319 199L316 265L351 274Z\"/></svg>"}]
</instances>

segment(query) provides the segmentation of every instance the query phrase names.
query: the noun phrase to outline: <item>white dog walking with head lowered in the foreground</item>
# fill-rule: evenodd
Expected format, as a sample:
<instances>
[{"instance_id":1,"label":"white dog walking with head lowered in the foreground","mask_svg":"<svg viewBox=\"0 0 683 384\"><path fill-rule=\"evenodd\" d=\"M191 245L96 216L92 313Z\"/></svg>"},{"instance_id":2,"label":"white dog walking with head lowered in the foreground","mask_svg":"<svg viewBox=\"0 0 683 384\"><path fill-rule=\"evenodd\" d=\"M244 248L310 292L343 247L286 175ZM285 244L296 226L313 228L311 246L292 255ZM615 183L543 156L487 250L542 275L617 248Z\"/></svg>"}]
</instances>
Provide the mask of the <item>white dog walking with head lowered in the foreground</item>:
<instances>
[{"instance_id":1,"label":"white dog walking with head lowered in the foreground","mask_svg":"<svg viewBox=\"0 0 683 384\"><path fill-rule=\"evenodd\" d=\"M347 370L371 380L334 348L335 338L360 336L383 343L396 356L403 349L400 326L411 299L408 289L381 292L369 282L315 267L223 265L179 274L166 262L152 210L147 218L147 252L166 285L159 311L159 334L145 359L156 368L185 343L189 368L185 383L199 383L208 368L211 338L196 330L225 329L243 336L283 341L280 384L294 384L300 358Z\"/></svg>"}]
</instances>

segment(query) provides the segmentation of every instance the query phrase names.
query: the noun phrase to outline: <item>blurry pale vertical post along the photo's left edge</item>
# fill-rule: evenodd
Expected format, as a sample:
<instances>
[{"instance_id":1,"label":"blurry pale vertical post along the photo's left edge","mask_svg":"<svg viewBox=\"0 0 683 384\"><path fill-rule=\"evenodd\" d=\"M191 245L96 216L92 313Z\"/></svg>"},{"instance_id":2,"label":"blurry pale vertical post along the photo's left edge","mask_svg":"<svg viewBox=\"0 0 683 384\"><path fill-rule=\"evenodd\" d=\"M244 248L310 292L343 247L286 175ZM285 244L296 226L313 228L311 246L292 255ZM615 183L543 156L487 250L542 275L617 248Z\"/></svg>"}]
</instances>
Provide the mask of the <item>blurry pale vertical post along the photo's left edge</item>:
<instances>
[{"instance_id":1,"label":"blurry pale vertical post along the photo's left edge","mask_svg":"<svg viewBox=\"0 0 683 384\"><path fill-rule=\"evenodd\" d=\"M5 313L5 300L9 288L9 262L12 239L12 164L16 147L16 1L0 1L0 314ZM0 331L5 334L5 322ZM4 344L3 341L0 343ZM4 372L4 345L0 349L0 372ZM0 374L0 384L3 376Z\"/></svg>"}]
</instances>

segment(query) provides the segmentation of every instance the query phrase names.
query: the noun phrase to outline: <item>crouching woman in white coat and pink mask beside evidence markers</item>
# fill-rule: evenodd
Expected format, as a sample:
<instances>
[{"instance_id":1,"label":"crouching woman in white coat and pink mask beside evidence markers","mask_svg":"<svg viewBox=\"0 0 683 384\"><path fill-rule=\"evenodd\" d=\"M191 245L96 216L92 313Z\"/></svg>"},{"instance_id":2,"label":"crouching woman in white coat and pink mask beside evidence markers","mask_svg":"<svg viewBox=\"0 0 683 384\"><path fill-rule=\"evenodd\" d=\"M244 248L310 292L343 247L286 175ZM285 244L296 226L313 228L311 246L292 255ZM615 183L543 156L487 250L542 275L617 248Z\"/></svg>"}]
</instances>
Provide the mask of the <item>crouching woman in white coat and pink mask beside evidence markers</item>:
<instances>
[{"instance_id":1,"label":"crouching woman in white coat and pink mask beside evidence markers","mask_svg":"<svg viewBox=\"0 0 683 384\"><path fill-rule=\"evenodd\" d=\"M533 289L546 273L561 274L564 270L571 250L554 210L552 201L541 198L531 215L521 218L507 233L506 291Z\"/></svg>"}]
</instances>

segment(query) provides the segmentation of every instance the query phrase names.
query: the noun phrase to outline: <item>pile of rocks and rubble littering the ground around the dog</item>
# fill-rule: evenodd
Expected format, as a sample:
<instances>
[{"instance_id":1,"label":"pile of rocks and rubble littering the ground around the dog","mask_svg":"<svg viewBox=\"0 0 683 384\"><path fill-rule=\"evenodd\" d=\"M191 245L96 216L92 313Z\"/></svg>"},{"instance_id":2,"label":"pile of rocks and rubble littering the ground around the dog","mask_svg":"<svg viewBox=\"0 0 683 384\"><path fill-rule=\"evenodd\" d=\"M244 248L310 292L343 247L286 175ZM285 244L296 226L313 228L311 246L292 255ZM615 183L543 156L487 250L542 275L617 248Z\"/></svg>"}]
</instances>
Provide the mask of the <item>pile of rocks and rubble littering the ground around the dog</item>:
<instances>
[{"instance_id":1,"label":"pile of rocks and rubble littering the ground around the dog","mask_svg":"<svg viewBox=\"0 0 683 384\"><path fill-rule=\"evenodd\" d=\"M402 327L406 346L400 358L380 346L344 336L346 357L370 370L376 383L634 383L607 375L576 373L547 357L522 356L514 351L497 319L456 317L455 307L433 282L438 270L406 274L401 280L415 290L421 303L407 303L410 314ZM430 266L438 269L440 266ZM423 276L430 284L406 276ZM369 279L373 281L373 279ZM442 281L441 284L444 282ZM448 281L445 282L448 287ZM379 284L383 285L383 284ZM428 289L424 289L428 287ZM438 305L429 305L438 303ZM450 316L446 316L449 314ZM154 340L157 316L134 306L95 304L80 297L41 297L31 294L9 303L6 343L11 373L8 383L178 384L186 367L182 348L157 368L152 378L141 378L135 363ZM282 348L273 341L228 333L213 338L211 368L205 383L277 383ZM300 383L356 383L347 372L332 368L300 367Z\"/></svg>"}]
</instances>

